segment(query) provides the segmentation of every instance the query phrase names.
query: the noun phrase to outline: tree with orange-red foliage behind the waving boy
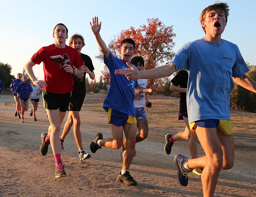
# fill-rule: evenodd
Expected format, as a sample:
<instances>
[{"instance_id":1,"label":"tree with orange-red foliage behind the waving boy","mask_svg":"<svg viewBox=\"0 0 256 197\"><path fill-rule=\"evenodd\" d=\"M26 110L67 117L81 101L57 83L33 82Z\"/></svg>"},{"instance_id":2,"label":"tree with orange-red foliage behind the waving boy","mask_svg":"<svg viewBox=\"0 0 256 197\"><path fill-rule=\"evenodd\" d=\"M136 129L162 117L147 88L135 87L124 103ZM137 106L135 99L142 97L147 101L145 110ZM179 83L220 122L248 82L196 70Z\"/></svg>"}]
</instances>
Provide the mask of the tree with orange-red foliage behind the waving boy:
<instances>
[{"instance_id":1,"label":"tree with orange-red foliage behind the waving boy","mask_svg":"<svg viewBox=\"0 0 256 197\"><path fill-rule=\"evenodd\" d=\"M145 70L153 69L162 65L164 61L169 61L175 55L172 48L175 43L173 38L176 36L173 33L173 26L165 26L158 18L148 19L148 26L141 25L140 28L122 30L120 34L114 36L108 44L108 48L111 53L120 57L119 48L123 39L132 38L136 43L135 56L142 56L145 61ZM96 56L98 59L102 59L102 55ZM108 69L105 66L101 71L103 80L109 80ZM108 74L108 75L107 75ZM161 82L160 79L157 80ZM149 82L151 83L151 82Z\"/></svg>"}]
</instances>

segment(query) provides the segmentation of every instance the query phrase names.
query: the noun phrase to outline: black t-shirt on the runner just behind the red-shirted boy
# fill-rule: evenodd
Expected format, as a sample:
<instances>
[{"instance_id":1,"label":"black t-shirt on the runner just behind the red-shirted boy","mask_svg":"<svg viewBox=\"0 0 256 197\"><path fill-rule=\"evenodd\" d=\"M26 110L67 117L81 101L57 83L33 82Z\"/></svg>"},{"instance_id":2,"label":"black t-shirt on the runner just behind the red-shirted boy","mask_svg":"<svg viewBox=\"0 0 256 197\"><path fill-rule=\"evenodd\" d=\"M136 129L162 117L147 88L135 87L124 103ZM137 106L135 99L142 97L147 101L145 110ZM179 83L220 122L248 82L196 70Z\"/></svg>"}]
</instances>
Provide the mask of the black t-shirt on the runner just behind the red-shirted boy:
<instances>
[{"instance_id":1,"label":"black t-shirt on the runner just behind the red-shirted boy","mask_svg":"<svg viewBox=\"0 0 256 197\"><path fill-rule=\"evenodd\" d=\"M88 69L92 72L94 70L94 66L92 65L91 58L88 55L80 53L81 58L84 62L84 65L88 67ZM73 80L74 80L74 90L72 94L79 94L79 95L84 95L86 94L86 87L85 87L85 78L86 78L86 72L84 72L84 77L79 78L73 75Z\"/></svg>"}]
</instances>

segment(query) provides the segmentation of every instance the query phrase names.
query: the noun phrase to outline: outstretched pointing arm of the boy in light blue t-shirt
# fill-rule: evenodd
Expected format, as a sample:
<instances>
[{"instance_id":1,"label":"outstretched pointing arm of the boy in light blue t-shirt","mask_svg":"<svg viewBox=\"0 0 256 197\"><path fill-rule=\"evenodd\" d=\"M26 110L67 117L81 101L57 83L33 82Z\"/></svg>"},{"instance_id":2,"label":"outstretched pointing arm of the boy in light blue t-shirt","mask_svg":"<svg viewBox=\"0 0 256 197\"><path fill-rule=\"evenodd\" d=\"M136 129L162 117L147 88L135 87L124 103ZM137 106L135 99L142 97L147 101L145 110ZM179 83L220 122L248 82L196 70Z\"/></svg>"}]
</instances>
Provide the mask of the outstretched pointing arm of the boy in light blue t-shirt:
<instances>
[{"instance_id":1,"label":"outstretched pointing arm of the boy in light blue t-shirt","mask_svg":"<svg viewBox=\"0 0 256 197\"><path fill-rule=\"evenodd\" d=\"M169 77L176 72L176 67L173 63L169 62L166 65L156 67L151 70L139 71L135 66L126 62L130 69L119 69L116 70L116 75L125 75L128 80L137 79L155 79L161 77Z\"/></svg>"}]
</instances>

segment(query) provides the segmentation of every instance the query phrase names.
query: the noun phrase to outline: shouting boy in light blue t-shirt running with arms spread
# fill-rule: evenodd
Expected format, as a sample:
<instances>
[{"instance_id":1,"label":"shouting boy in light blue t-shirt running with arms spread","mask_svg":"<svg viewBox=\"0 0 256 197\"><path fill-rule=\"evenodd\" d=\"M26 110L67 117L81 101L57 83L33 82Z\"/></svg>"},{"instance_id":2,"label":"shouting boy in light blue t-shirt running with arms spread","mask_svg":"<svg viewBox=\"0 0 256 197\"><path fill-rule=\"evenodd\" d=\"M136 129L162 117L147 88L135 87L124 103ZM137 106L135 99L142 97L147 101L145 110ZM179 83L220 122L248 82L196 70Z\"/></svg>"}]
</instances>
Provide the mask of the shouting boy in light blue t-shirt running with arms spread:
<instances>
[{"instance_id":1,"label":"shouting boy in light blue t-shirt running with arms spread","mask_svg":"<svg viewBox=\"0 0 256 197\"><path fill-rule=\"evenodd\" d=\"M188 159L175 156L178 181L188 185L188 173L203 168L204 196L213 196L220 170L234 165L234 136L230 122L230 93L234 82L256 92L256 82L245 75L249 71L238 46L221 38L229 15L226 3L215 2L200 16L205 37L183 45L167 65L148 71L117 70L129 80L158 78L188 70L187 108L191 132L195 132L206 156Z\"/></svg>"}]
</instances>

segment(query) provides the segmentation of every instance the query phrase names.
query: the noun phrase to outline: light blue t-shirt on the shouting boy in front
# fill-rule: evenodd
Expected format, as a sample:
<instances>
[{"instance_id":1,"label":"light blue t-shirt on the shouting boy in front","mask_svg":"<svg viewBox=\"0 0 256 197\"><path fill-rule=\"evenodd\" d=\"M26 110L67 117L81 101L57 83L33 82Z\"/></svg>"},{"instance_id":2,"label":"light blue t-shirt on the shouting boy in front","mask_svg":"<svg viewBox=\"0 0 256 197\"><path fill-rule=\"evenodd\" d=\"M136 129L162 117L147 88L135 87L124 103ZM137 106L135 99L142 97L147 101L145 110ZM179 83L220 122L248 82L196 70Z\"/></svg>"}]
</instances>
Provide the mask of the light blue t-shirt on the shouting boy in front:
<instances>
[{"instance_id":1,"label":"light blue t-shirt on the shouting boy in front","mask_svg":"<svg viewBox=\"0 0 256 197\"><path fill-rule=\"evenodd\" d=\"M232 77L249 71L237 45L223 40L215 44L202 38L186 43L171 62L189 72L187 109L189 123L197 120L229 120Z\"/></svg>"}]
</instances>

